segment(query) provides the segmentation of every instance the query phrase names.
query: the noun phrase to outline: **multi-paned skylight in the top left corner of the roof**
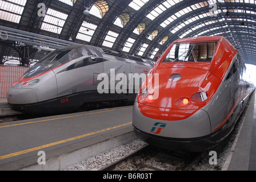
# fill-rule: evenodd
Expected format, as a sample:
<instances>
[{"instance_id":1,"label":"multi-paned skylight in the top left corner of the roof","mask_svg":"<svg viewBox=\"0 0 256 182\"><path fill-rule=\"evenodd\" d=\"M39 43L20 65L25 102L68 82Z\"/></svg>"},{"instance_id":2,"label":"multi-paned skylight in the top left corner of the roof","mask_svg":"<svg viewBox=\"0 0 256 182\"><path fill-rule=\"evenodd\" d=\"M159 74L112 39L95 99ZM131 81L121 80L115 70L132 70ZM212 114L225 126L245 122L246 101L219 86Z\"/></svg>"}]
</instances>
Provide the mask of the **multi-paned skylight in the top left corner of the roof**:
<instances>
[{"instance_id":1,"label":"multi-paned skylight in the top left corner of the roof","mask_svg":"<svg viewBox=\"0 0 256 182\"><path fill-rule=\"evenodd\" d=\"M0 0L0 19L19 23L26 2L26 0Z\"/></svg>"}]
</instances>

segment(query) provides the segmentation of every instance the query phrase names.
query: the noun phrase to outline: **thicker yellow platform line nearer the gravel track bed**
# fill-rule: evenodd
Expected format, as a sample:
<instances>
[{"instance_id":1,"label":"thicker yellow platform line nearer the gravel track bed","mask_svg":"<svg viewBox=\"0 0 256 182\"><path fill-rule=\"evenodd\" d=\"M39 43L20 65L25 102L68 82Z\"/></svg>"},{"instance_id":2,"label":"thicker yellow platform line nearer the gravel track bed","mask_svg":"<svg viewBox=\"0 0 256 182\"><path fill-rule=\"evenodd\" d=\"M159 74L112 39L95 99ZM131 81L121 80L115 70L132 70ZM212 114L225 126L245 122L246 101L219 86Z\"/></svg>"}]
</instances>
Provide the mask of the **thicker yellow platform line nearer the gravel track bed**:
<instances>
[{"instance_id":1,"label":"thicker yellow platform line nearer the gravel track bed","mask_svg":"<svg viewBox=\"0 0 256 182\"><path fill-rule=\"evenodd\" d=\"M0 156L0 160L2 160L2 159L7 159L7 158L11 158L11 157L14 157L14 156L17 156L17 155L21 155L21 154L26 154L26 153L28 153L28 152L32 152L32 151L36 151L36 150L41 150L41 149L43 149L43 148L55 146L55 145L57 145L57 144L70 142L70 141L72 141L72 140L77 140L77 139L80 139L80 138L88 137L88 136L90 136L90 135L95 135L95 134L103 133L103 132L105 132L105 131L117 129L117 128L122 127L122 126L131 125L131 123L132 123L132 122L125 123L125 124L123 124L123 125L113 126L113 127L107 128L107 129L94 131L94 132L92 132L92 133L87 133L87 134L84 134L84 135L79 135L79 136L77 136L77 137L68 138L68 139L64 139L64 140L58 141L58 142L53 142L53 143L45 144L45 145L43 145L43 146L34 147L34 148L27 149L27 150L23 150L23 151L14 152L14 153L11 153L11 154L3 155L3 156Z\"/></svg>"}]
</instances>

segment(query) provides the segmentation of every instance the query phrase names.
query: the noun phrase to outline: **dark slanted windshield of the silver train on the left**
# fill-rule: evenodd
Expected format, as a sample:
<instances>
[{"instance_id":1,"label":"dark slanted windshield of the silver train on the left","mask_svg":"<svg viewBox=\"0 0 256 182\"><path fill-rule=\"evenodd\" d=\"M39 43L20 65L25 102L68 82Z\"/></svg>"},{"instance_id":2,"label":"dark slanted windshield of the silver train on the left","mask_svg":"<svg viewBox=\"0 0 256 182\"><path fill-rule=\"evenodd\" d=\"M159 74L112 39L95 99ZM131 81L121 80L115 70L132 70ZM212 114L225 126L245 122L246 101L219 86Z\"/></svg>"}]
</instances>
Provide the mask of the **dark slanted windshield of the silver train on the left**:
<instances>
[{"instance_id":1,"label":"dark slanted windshield of the silver train on the left","mask_svg":"<svg viewBox=\"0 0 256 182\"><path fill-rule=\"evenodd\" d=\"M72 49L57 49L49 53L49 55L43 57L43 59L38 61L38 63L53 64L61 59L63 56L67 55L67 53L69 53L70 51L72 51Z\"/></svg>"}]
</instances>

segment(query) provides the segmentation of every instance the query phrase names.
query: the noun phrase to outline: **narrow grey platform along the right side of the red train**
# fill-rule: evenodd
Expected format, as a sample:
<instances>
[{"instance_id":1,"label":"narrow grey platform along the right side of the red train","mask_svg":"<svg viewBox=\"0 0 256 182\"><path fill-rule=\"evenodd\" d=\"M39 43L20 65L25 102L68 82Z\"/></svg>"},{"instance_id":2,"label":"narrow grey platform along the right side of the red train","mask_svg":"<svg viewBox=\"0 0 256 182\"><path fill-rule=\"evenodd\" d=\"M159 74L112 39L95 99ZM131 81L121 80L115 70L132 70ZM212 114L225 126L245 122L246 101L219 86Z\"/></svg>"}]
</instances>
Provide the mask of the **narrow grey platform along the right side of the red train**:
<instances>
[{"instance_id":1,"label":"narrow grey platform along the right side of the red train","mask_svg":"<svg viewBox=\"0 0 256 182\"><path fill-rule=\"evenodd\" d=\"M249 107L239 129L223 171L256 170L256 98L251 96Z\"/></svg>"}]
</instances>

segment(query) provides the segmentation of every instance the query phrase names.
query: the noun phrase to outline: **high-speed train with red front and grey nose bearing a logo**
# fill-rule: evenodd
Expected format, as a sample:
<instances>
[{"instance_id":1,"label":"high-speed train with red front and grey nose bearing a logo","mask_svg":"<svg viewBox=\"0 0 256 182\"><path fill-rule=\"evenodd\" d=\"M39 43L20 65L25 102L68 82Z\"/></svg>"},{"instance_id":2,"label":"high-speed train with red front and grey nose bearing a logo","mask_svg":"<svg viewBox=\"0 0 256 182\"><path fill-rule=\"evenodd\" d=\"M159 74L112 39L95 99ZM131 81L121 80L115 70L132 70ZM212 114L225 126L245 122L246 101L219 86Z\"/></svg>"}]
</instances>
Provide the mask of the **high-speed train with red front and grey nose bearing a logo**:
<instances>
[{"instance_id":1,"label":"high-speed train with red front and grey nose bearing a logo","mask_svg":"<svg viewBox=\"0 0 256 182\"><path fill-rule=\"evenodd\" d=\"M179 39L137 95L133 127L154 146L199 152L233 130L254 88L237 49L222 36Z\"/></svg>"}]
</instances>

